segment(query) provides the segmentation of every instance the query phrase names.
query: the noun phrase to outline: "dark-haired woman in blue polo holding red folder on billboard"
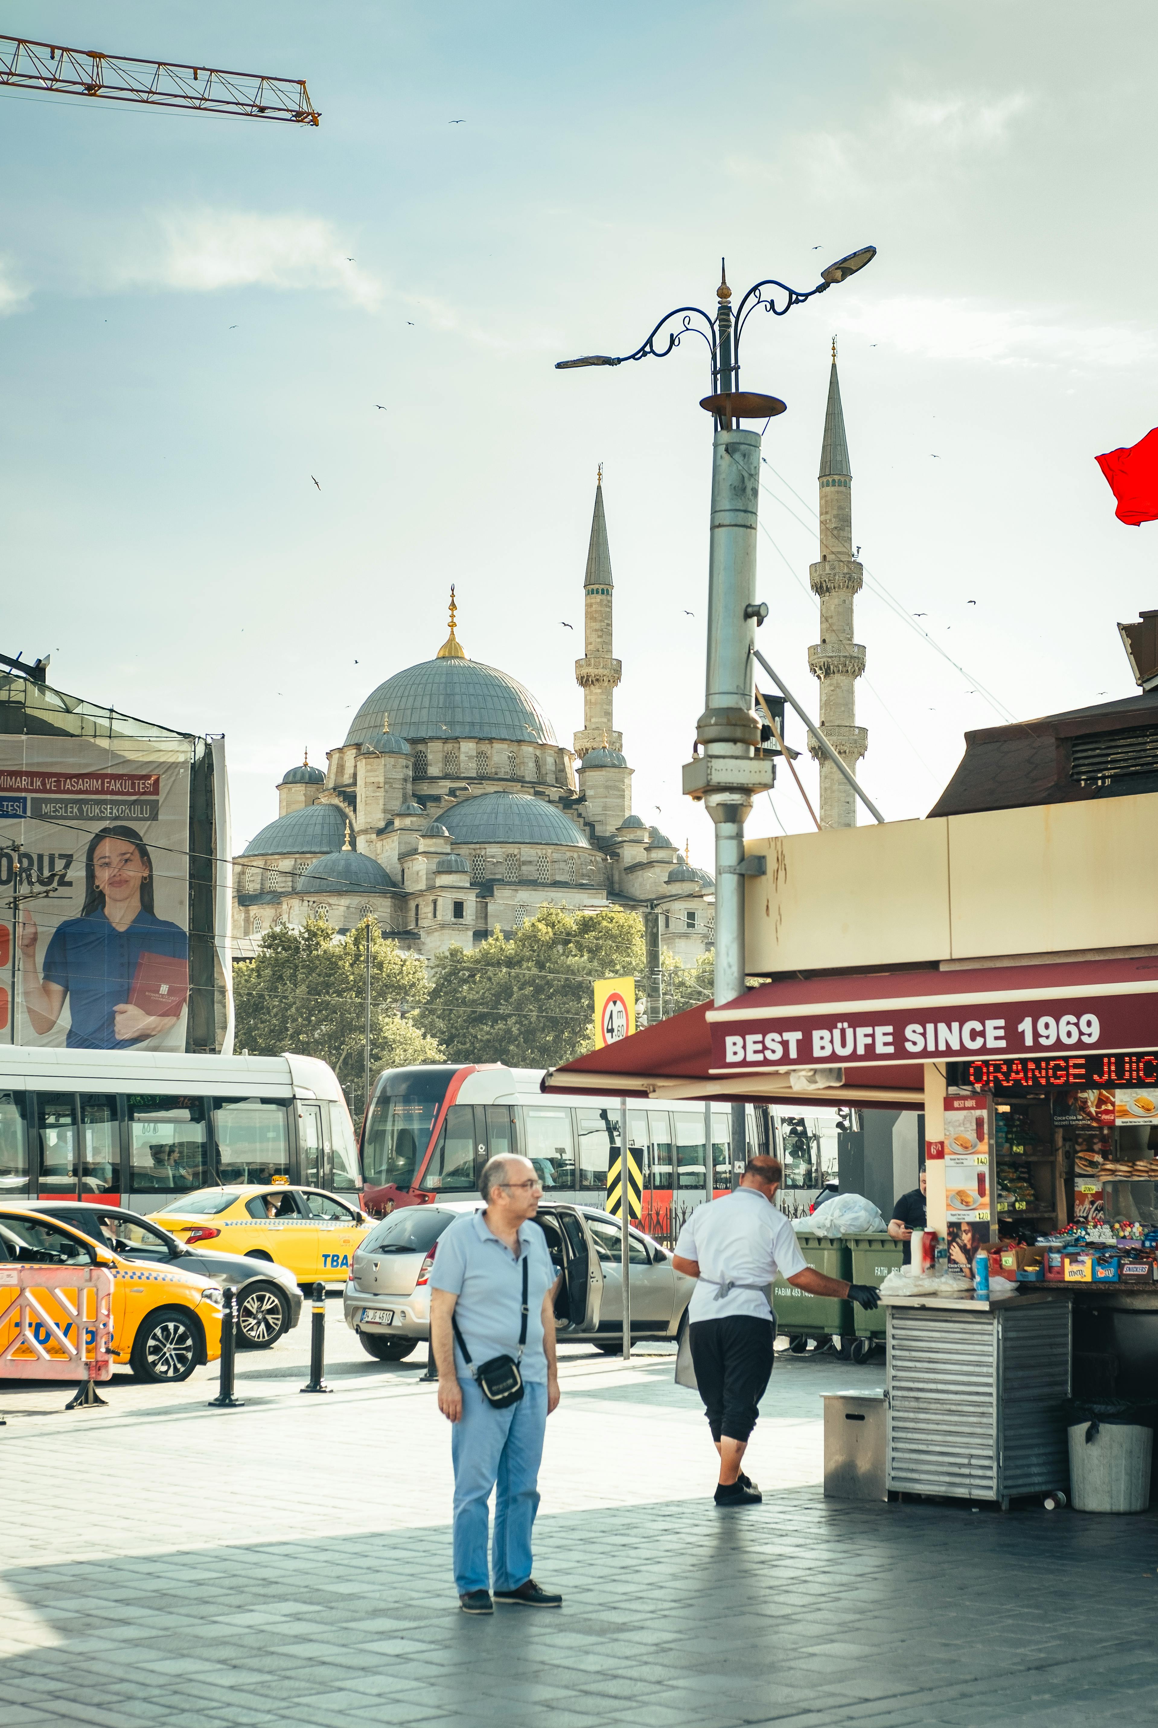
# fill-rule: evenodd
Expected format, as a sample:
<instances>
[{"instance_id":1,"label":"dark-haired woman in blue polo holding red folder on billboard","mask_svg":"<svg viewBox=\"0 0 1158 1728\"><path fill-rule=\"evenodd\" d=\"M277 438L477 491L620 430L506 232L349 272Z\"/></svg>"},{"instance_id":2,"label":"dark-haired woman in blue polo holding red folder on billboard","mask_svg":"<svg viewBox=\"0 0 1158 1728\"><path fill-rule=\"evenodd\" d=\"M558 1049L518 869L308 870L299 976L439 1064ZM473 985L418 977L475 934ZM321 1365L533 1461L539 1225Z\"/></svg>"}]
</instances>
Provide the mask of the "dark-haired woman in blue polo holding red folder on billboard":
<instances>
[{"instance_id":1,"label":"dark-haired woman in blue polo holding red folder on billboard","mask_svg":"<svg viewBox=\"0 0 1158 1728\"><path fill-rule=\"evenodd\" d=\"M188 937L154 912L152 859L135 828L102 828L90 840L81 916L57 924L41 976L38 935L24 912L24 1009L40 1037L66 997L69 1049L123 1051L176 1023L188 995Z\"/></svg>"}]
</instances>

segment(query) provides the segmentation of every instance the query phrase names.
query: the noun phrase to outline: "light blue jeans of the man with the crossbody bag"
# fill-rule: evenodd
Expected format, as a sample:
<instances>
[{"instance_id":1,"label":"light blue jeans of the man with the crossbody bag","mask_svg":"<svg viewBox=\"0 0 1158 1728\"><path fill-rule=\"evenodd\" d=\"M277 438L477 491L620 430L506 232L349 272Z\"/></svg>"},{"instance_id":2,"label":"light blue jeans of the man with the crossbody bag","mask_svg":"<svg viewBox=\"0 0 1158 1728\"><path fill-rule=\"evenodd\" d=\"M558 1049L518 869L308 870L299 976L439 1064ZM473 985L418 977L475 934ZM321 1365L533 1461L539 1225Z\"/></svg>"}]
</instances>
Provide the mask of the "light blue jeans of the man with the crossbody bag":
<instances>
[{"instance_id":1,"label":"light blue jeans of the man with the crossbody bag","mask_svg":"<svg viewBox=\"0 0 1158 1728\"><path fill-rule=\"evenodd\" d=\"M496 1590L531 1578L531 1531L539 1510L539 1460L546 1431L546 1386L524 1382L517 1405L496 1410L463 1374L463 1414L451 1429L455 1460L455 1586L489 1590L487 1502L494 1495L491 1571Z\"/></svg>"}]
</instances>

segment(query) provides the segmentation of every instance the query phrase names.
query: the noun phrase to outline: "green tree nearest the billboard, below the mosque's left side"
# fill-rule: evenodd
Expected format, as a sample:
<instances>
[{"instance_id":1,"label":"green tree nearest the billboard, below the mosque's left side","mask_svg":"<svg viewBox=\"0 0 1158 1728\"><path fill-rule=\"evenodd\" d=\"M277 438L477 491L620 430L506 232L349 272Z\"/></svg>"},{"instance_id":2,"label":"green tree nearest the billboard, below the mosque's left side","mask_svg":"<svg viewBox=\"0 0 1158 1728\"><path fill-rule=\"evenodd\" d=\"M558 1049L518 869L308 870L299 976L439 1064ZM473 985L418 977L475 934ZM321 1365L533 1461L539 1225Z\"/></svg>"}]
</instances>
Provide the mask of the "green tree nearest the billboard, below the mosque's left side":
<instances>
[{"instance_id":1,"label":"green tree nearest the billboard, below the mosque's left side","mask_svg":"<svg viewBox=\"0 0 1158 1728\"><path fill-rule=\"evenodd\" d=\"M237 1049L318 1056L342 1082L351 1115L365 1109L365 978L370 938L370 1083L384 1068L439 1061L437 1042L403 1011L427 999L423 962L387 942L372 918L335 937L323 918L275 924L252 961L233 966Z\"/></svg>"}]
</instances>

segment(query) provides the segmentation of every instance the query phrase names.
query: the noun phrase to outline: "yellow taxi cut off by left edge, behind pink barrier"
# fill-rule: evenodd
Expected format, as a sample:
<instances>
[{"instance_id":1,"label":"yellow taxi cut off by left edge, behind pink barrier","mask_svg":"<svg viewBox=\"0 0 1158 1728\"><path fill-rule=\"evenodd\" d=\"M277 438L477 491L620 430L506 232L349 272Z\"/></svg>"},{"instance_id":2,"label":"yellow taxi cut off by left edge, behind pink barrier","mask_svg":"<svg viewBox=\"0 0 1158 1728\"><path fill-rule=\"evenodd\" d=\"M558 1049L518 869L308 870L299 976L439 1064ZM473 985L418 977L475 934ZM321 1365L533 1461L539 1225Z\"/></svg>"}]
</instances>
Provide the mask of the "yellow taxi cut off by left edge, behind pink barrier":
<instances>
[{"instance_id":1,"label":"yellow taxi cut off by left edge, behind pink barrier","mask_svg":"<svg viewBox=\"0 0 1158 1728\"><path fill-rule=\"evenodd\" d=\"M9 1289L9 1280L16 1284L12 1268L45 1267L50 1272L88 1265L107 1267L112 1274L112 1360L131 1367L138 1381L185 1381L199 1362L216 1362L221 1355L220 1284L176 1267L137 1265L67 1223L12 1204L0 1206L0 1315L10 1310L0 1322L0 1351L14 1344L19 1324L16 1289ZM36 1301L69 1337L74 1322L52 1291L36 1291ZM33 1336L50 1356L66 1355L43 1320L33 1324ZM17 1343L9 1360L22 1358L24 1348Z\"/></svg>"}]
</instances>

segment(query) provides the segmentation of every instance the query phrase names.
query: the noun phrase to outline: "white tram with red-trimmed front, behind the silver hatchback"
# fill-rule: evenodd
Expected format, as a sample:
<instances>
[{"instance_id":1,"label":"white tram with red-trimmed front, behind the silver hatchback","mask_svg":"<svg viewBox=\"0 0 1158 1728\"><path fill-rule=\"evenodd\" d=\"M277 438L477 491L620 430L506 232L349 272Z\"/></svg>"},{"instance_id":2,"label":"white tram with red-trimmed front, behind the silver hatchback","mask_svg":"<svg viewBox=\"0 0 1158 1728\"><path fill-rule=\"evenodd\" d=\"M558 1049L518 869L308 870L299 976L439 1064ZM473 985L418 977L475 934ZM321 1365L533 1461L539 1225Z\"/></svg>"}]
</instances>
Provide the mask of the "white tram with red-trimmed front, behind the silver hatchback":
<instances>
[{"instance_id":1,"label":"white tram with red-trimmed front, behind the silver hatchback","mask_svg":"<svg viewBox=\"0 0 1158 1728\"><path fill-rule=\"evenodd\" d=\"M382 1213L477 1191L487 1158L519 1151L546 1199L574 1194L601 1206L607 1165L619 1151L619 1099L543 1094L541 1068L427 1063L379 1077L363 1125L363 1204ZM783 1210L807 1211L837 1168L837 1111L745 1106L747 1153L785 1161ZM643 1229L671 1236L707 1199L703 1102L627 1099L627 1142L643 1177ZM714 1194L733 1185L731 1109L712 1106ZM792 1189L792 1194L788 1192Z\"/></svg>"}]
</instances>

